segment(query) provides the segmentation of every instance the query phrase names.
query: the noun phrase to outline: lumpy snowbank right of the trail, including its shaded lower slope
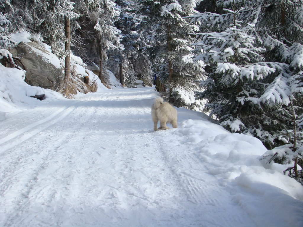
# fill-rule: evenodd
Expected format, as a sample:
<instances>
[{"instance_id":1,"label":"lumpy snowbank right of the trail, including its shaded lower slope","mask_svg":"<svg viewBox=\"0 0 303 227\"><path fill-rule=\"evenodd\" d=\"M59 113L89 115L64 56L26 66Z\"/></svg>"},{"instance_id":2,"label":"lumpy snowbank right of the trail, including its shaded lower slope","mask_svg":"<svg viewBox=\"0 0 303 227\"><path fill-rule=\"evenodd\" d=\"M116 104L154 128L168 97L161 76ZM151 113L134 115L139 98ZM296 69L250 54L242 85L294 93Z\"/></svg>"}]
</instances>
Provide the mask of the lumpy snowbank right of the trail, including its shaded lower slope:
<instances>
[{"instance_id":1,"label":"lumpy snowbank right of the trail, including its shaded lower slope","mask_svg":"<svg viewBox=\"0 0 303 227\"><path fill-rule=\"evenodd\" d=\"M258 226L282 226L287 217L293 216L296 218L288 220L288 226L303 224L299 214L303 213L301 184L277 171L276 165L263 166L259 159L267 149L260 140L229 133L204 120L183 121L174 133L185 136L187 144L196 147L195 155L208 166L208 174L229 190L243 210L258 217ZM273 223L268 217L275 214L279 215Z\"/></svg>"}]
</instances>

